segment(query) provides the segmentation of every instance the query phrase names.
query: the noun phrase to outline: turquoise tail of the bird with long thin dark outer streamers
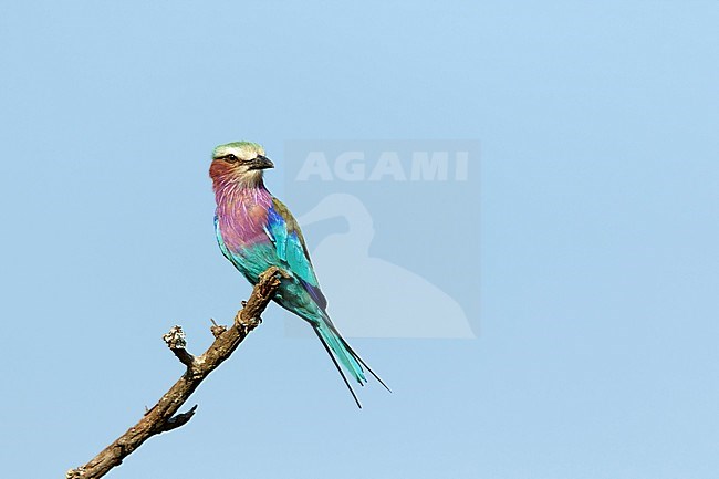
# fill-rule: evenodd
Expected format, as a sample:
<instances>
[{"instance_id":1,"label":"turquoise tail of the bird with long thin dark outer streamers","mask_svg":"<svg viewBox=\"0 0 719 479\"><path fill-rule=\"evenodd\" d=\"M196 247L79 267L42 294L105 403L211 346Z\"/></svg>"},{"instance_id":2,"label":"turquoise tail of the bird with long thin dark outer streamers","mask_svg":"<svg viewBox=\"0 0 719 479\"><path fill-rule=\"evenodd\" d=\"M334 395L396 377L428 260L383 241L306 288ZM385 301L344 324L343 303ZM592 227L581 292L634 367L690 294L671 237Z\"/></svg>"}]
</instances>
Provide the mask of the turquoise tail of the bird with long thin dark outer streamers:
<instances>
[{"instance_id":1,"label":"turquoise tail of the bird with long thin dark outer streamers","mask_svg":"<svg viewBox=\"0 0 719 479\"><path fill-rule=\"evenodd\" d=\"M390 392L385 382L382 381L382 378L377 376L375 372L369 368L369 366L367 366L367 363L365 363L362 357L359 357L359 355L354 352L350 344L347 344L344 337L342 337L330 317L325 316L322 321L314 323L313 326L314 332L320 337L320 341L324 345L324 348L327 351L327 354L330 354L330 357L332 357L335 367L342 375L342 379L344 379L344 383L347 385L347 388L350 389L350 393L352 393L352 397L354 397L354 400L357 403L358 407L362 408L362 404L359 403L357 395L355 394L350 382L347 381L347 377L342 371L342 367L340 367L340 364L344 366L352 378L359 383L361 386L364 386L367 382L364 373L364 369L366 368L369 374L372 374L379 382L379 384L382 384L387 391Z\"/></svg>"}]
</instances>

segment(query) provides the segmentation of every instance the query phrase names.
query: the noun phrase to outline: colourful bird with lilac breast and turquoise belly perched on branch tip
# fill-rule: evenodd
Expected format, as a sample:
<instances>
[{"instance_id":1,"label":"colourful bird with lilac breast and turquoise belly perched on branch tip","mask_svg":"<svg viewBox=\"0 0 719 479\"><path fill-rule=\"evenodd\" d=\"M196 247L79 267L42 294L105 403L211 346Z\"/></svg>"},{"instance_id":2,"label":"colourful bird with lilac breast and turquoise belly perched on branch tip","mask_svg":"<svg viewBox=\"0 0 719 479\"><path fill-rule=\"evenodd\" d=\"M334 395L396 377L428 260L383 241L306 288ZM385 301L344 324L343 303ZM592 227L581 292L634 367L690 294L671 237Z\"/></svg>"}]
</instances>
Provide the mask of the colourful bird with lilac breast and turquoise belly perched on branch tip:
<instances>
[{"instance_id":1,"label":"colourful bird with lilac breast and turquoise belly perched on branch tip","mask_svg":"<svg viewBox=\"0 0 719 479\"><path fill-rule=\"evenodd\" d=\"M264 148L252 142L227 143L212 150L209 174L217 204L217 242L225 258L253 285L268 268L277 267L282 271L273 301L312 326L356 405L362 408L342 367L361 386L367 383L366 369L390 389L342 337L330 319L327 299L320 289L300 225L264 186L263 171L274 168L264 155Z\"/></svg>"}]
</instances>

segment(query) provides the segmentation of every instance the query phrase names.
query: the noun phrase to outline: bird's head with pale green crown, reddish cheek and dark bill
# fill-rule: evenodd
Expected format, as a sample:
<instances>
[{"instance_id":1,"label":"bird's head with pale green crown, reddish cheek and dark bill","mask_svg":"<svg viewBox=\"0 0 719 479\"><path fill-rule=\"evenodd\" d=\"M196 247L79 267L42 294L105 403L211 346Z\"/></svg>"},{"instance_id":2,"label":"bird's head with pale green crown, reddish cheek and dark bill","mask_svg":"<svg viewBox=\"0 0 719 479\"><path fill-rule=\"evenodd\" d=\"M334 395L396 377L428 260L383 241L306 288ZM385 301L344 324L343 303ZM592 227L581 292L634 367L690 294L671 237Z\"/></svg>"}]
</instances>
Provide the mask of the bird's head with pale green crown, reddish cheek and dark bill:
<instances>
[{"instance_id":1,"label":"bird's head with pale green crown, reddish cheek and dark bill","mask_svg":"<svg viewBox=\"0 0 719 479\"><path fill-rule=\"evenodd\" d=\"M263 169L273 167L264 156L264 148L257 143L228 143L212 150L210 178L216 187L221 184L252 187L262 184Z\"/></svg>"}]
</instances>

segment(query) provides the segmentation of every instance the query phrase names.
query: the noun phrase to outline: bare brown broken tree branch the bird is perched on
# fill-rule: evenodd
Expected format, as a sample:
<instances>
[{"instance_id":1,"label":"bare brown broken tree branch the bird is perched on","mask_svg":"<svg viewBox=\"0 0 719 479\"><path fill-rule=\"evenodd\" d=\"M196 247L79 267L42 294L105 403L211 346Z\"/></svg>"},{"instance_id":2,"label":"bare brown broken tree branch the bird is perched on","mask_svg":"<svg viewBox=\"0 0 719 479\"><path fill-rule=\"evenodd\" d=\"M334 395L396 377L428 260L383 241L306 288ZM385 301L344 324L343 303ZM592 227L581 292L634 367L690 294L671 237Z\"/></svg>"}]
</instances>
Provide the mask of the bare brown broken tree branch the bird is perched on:
<instances>
[{"instance_id":1,"label":"bare brown broken tree branch the bird is perched on","mask_svg":"<svg viewBox=\"0 0 719 479\"><path fill-rule=\"evenodd\" d=\"M242 309L235 315L231 326L219 326L212 321L215 342L200 356L187 352L185 333L180 326L174 326L163 336L177 358L187 367L183 376L169 388L159 402L145 413L139 421L127 429L113 444L103 449L90 462L65 475L66 479L101 478L115 466L119 466L127 456L143 442L158 434L176 429L187 424L195 414L197 405L186 413L177 414L197 386L219 366L240 345L247 335L260 322L260 314L274 296L280 285L278 275L282 271L272 267L260 275L260 281L252 290L250 299L242 303Z\"/></svg>"}]
</instances>

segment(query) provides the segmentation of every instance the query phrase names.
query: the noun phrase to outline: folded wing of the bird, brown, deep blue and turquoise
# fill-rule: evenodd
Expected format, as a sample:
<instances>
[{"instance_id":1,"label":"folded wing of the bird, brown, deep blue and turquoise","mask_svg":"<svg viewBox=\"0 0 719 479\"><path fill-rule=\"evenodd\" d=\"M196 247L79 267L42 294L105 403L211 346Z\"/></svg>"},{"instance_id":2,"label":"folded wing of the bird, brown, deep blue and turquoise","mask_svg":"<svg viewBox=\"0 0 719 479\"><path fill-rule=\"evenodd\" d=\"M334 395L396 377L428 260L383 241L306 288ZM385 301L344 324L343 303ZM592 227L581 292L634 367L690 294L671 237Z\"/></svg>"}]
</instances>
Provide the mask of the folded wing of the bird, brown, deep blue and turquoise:
<instances>
[{"instance_id":1,"label":"folded wing of the bird, brown, deep blue and turquoise","mask_svg":"<svg viewBox=\"0 0 719 479\"><path fill-rule=\"evenodd\" d=\"M289 270L294 273L304 289L321 309L327 308L327 300L320 290L317 277L314 274L312 261L300 225L282 201L272 198L272 206L268 214L268 225L264 230L274 243L278 257L285 262Z\"/></svg>"}]
</instances>

